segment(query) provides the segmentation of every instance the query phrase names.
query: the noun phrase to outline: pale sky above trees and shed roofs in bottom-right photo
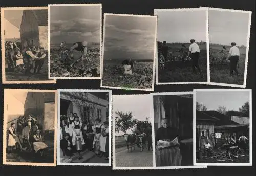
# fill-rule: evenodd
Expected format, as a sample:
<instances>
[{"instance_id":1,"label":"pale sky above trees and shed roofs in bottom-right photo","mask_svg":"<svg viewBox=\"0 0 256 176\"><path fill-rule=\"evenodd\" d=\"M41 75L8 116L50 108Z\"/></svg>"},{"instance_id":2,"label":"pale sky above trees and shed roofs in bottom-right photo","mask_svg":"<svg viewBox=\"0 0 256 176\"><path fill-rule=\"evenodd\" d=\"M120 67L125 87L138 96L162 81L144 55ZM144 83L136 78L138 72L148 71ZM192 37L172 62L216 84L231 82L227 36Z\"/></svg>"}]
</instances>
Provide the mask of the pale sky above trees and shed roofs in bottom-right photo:
<instances>
[{"instance_id":1,"label":"pale sky above trees and shed roofs in bottom-right photo","mask_svg":"<svg viewBox=\"0 0 256 176\"><path fill-rule=\"evenodd\" d=\"M247 101L250 102L249 92L234 91L212 91L212 92L196 92L196 101L204 104L207 110L216 110L219 106L226 106L228 110L239 111L239 108Z\"/></svg>"}]
</instances>

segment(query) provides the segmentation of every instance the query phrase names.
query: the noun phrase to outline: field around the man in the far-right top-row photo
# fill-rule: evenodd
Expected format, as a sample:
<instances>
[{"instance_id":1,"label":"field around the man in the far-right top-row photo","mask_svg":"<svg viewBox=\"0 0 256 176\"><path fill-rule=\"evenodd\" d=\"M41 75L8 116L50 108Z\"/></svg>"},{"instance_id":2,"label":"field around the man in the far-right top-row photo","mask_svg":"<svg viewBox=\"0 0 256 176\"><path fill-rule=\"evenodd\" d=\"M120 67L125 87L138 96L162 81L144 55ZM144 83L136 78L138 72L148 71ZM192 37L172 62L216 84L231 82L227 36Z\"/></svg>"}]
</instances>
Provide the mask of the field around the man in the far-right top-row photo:
<instances>
[{"instance_id":1,"label":"field around the man in the far-right top-row photo","mask_svg":"<svg viewBox=\"0 0 256 176\"><path fill-rule=\"evenodd\" d=\"M226 46L229 51L230 46ZM222 50L221 45L210 45L210 53L217 53ZM238 61L239 76L234 73L234 76L230 76L230 65L214 65L210 64L210 82L237 84L243 85L244 83L244 70L245 70L245 54L246 48L239 48L240 60ZM215 54L218 57L218 54Z\"/></svg>"}]
</instances>

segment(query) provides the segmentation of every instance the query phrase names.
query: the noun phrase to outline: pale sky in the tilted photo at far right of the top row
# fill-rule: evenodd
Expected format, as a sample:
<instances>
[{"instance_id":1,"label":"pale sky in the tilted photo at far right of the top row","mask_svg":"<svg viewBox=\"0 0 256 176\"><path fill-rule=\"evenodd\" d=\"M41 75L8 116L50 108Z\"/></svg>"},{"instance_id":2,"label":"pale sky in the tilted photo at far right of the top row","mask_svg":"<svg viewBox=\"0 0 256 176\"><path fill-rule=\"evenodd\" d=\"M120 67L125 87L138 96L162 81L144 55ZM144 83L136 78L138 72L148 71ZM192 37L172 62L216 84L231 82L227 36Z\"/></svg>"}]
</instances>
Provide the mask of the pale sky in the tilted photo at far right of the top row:
<instances>
[{"instance_id":1,"label":"pale sky in the tilted photo at far right of the top row","mask_svg":"<svg viewBox=\"0 0 256 176\"><path fill-rule=\"evenodd\" d=\"M249 14L209 10L209 42L221 45L246 46Z\"/></svg>"}]
</instances>

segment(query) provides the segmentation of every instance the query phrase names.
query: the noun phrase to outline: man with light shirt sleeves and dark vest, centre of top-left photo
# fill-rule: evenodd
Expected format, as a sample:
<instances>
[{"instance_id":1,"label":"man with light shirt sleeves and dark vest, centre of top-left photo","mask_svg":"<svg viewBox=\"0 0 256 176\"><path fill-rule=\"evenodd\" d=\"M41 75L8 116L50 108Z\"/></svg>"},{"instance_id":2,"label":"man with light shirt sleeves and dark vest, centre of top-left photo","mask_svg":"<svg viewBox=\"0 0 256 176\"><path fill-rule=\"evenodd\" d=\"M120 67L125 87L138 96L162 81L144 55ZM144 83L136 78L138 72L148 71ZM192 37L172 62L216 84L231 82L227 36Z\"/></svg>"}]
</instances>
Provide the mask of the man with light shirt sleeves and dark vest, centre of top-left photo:
<instances>
[{"instance_id":1,"label":"man with light shirt sleeves and dark vest, centre of top-left photo","mask_svg":"<svg viewBox=\"0 0 256 176\"><path fill-rule=\"evenodd\" d=\"M25 65L25 75L29 75L31 74L30 70L33 68L33 60L34 59L39 59L39 57L35 56L33 53L32 53L32 48L33 46L32 45L29 45L28 48L26 49L25 51L25 54L24 54L24 65Z\"/></svg>"}]
</instances>

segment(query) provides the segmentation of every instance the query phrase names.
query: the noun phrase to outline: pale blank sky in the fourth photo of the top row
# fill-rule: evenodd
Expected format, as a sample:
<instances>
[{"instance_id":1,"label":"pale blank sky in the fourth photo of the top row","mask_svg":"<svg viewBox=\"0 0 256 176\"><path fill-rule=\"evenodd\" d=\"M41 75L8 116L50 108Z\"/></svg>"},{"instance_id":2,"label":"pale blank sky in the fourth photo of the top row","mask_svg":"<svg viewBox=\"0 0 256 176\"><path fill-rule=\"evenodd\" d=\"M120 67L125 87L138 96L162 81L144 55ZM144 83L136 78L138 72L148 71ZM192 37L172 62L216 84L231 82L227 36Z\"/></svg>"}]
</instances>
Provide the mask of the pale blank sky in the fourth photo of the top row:
<instances>
[{"instance_id":1,"label":"pale blank sky in the fourth photo of the top row","mask_svg":"<svg viewBox=\"0 0 256 176\"><path fill-rule=\"evenodd\" d=\"M206 11L157 11L157 16L158 41L206 41Z\"/></svg>"}]
</instances>

